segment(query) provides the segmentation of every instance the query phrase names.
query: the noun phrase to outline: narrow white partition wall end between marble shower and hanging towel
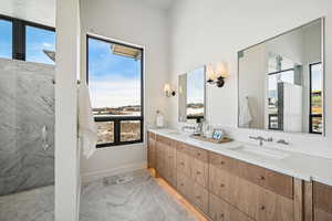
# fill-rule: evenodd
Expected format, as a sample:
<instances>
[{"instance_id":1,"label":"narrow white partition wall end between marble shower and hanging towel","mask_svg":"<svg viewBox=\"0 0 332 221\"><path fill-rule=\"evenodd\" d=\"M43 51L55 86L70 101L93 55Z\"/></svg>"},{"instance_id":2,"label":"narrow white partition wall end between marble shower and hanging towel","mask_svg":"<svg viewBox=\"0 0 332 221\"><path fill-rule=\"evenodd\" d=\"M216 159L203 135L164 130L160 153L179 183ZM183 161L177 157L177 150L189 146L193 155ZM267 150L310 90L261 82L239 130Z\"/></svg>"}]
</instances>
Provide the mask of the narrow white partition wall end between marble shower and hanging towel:
<instances>
[{"instance_id":1,"label":"narrow white partition wall end between marble shower and hanging towel","mask_svg":"<svg viewBox=\"0 0 332 221\"><path fill-rule=\"evenodd\" d=\"M79 220L77 84L79 0L56 0L55 221Z\"/></svg>"}]
</instances>

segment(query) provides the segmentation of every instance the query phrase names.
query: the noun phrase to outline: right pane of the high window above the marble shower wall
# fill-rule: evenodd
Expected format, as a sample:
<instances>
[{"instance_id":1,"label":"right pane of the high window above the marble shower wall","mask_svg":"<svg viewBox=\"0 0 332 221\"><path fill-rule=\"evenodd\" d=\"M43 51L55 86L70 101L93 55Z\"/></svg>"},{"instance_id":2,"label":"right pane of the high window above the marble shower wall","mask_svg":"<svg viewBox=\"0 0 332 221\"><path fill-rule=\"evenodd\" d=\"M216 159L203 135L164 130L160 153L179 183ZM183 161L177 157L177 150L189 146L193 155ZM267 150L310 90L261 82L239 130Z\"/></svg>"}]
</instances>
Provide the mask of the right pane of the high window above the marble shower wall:
<instances>
[{"instance_id":1,"label":"right pane of the high window above the marble shower wall","mask_svg":"<svg viewBox=\"0 0 332 221\"><path fill-rule=\"evenodd\" d=\"M54 64L46 53L55 52L55 33L46 29L25 27L25 61Z\"/></svg>"}]
</instances>

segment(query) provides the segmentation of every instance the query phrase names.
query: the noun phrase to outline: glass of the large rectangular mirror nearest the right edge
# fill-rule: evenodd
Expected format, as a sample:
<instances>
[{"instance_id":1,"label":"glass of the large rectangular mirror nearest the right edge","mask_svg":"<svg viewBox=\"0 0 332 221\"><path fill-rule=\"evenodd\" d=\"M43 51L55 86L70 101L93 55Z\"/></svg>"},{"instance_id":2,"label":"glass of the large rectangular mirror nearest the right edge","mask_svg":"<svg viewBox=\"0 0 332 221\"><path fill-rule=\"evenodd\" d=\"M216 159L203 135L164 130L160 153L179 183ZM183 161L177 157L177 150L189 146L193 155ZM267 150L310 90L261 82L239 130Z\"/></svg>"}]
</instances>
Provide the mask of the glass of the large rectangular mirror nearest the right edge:
<instances>
[{"instance_id":1,"label":"glass of the large rectangular mirror nearest the right edge","mask_svg":"<svg viewBox=\"0 0 332 221\"><path fill-rule=\"evenodd\" d=\"M324 133L324 20L238 52L238 126Z\"/></svg>"}]
</instances>

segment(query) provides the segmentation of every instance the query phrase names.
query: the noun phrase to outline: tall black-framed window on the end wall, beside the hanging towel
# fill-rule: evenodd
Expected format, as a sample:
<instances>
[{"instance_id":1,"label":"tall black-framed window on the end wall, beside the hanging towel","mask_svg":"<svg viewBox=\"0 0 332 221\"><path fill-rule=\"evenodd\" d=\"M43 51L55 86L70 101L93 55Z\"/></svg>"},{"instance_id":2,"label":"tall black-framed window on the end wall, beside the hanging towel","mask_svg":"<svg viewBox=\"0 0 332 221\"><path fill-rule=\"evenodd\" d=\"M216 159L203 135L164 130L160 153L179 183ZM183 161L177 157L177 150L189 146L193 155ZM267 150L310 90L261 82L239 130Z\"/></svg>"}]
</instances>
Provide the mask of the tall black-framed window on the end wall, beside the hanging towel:
<instances>
[{"instance_id":1,"label":"tall black-framed window on the end wall, beside the hanging towel","mask_svg":"<svg viewBox=\"0 0 332 221\"><path fill-rule=\"evenodd\" d=\"M87 36L97 147L143 141L143 49Z\"/></svg>"}]
</instances>

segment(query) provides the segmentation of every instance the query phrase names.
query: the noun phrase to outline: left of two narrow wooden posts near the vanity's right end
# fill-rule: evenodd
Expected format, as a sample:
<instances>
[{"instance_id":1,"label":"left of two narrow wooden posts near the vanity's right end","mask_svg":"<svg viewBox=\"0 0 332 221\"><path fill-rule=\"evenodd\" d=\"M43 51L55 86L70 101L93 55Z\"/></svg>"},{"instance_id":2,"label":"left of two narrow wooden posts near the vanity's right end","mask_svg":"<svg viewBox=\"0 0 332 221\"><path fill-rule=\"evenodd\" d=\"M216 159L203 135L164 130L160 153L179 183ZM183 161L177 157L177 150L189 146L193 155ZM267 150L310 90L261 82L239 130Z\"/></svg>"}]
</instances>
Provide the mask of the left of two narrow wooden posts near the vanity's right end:
<instances>
[{"instance_id":1,"label":"left of two narrow wooden posts near the vanity's right end","mask_svg":"<svg viewBox=\"0 0 332 221\"><path fill-rule=\"evenodd\" d=\"M303 180L294 178L294 221L303 221Z\"/></svg>"}]
</instances>

